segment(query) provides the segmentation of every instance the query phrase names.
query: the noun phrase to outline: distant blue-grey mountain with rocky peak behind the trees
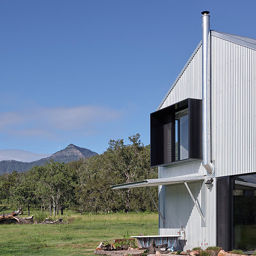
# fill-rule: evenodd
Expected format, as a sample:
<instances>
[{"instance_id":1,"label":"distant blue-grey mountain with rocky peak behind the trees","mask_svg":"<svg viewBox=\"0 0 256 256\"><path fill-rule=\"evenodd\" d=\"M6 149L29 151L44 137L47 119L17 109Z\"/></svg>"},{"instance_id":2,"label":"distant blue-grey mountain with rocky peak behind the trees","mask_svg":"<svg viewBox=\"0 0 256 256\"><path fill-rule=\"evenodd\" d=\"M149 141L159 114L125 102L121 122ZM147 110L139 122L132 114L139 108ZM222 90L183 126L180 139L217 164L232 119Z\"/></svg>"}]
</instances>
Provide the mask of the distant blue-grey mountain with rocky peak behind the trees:
<instances>
[{"instance_id":1,"label":"distant blue-grey mountain with rocky peak behind the trees","mask_svg":"<svg viewBox=\"0 0 256 256\"><path fill-rule=\"evenodd\" d=\"M17 171L18 173L25 172L33 166L44 165L47 161L49 162L51 159L60 163L69 163L71 161L79 160L82 157L88 158L93 155L98 154L91 151L90 149L70 144L66 148L54 153L51 156L33 162L19 162L16 160L0 161L0 175L5 173L11 173L13 171Z\"/></svg>"}]
</instances>

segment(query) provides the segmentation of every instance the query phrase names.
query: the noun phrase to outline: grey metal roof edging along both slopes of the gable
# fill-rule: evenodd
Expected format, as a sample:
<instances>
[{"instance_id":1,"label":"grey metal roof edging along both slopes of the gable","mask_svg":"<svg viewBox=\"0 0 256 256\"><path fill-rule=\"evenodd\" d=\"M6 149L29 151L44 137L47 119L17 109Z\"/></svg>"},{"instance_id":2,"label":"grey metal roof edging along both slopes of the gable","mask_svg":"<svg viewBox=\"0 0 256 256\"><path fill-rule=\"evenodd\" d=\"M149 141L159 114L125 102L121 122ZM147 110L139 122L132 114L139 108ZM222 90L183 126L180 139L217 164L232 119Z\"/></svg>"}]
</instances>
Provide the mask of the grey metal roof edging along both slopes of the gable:
<instances>
[{"instance_id":1,"label":"grey metal roof edging along both slopes of the gable","mask_svg":"<svg viewBox=\"0 0 256 256\"><path fill-rule=\"evenodd\" d=\"M238 45L242 45L242 46L246 46L248 48L254 49L256 50L256 39L253 38L249 38L249 37L241 37L241 36L237 36L237 35L232 35L232 34L228 34L228 33L224 33L224 32L219 32L219 31L215 31L215 30L210 30L210 34L211 36L214 37L219 37L222 38L224 40L228 40L230 42L236 43ZM177 78L175 79L174 83L172 84L172 86L170 87L170 89L167 91L164 99L161 101L161 103L159 104L159 106L157 107L156 110L159 110L160 107L162 106L162 104L164 103L165 99L167 98L167 96L169 95L169 93L172 91L172 89L174 88L175 84L177 83L177 81L180 79L180 77L182 76L184 70L187 68L187 66L189 65L189 63L191 62L193 56L196 54L196 52L198 51L198 49L200 48L202 44L202 41L198 44L198 46L195 48L194 52L192 53L192 55L190 56L190 58L188 59L187 63L184 65L182 71L179 73L179 75L177 76Z\"/></svg>"}]
</instances>

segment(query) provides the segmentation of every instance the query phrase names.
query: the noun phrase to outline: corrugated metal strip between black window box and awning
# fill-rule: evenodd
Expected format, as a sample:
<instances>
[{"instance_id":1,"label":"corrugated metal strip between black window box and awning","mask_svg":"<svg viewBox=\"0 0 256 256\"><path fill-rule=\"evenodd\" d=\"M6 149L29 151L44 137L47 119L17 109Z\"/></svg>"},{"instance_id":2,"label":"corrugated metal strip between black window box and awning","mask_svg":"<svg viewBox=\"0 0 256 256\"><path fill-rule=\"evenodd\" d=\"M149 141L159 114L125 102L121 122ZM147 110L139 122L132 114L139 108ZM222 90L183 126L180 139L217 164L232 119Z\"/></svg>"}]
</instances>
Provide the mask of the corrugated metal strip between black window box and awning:
<instances>
[{"instance_id":1,"label":"corrugated metal strip between black window box and awning","mask_svg":"<svg viewBox=\"0 0 256 256\"><path fill-rule=\"evenodd\" d=\"M203 176L206 175L206 170L202 166L202 161L194 161L190 164L179 166L158 167L158 178L172 177L188 177L188 176Z\"/></svg>"}]
</instances>

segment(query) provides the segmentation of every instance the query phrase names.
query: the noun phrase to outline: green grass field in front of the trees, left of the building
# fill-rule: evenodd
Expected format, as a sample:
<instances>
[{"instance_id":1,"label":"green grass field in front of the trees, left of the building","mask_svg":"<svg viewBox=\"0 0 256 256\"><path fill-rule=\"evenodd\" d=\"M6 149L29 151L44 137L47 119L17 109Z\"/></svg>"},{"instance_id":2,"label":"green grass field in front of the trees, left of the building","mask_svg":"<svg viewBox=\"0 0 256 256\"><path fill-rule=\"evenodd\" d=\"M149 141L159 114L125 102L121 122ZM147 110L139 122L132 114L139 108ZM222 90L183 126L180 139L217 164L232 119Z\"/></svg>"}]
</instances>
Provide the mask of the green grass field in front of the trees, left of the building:
<instances>
[{"instance_id":1,"label":"green grass field in front of the trees, left of the building","mask_svg":"<svg viewBox=\"0 0 256 256\"><path fill-rule=\"evenodd\" d=\"M0 255L91 256L102 240L122 238L127 231L131 236L158 234L157 213L79 215L65 212L63 219L70 224L0 225Z\"/></svg>"}]
</instances>

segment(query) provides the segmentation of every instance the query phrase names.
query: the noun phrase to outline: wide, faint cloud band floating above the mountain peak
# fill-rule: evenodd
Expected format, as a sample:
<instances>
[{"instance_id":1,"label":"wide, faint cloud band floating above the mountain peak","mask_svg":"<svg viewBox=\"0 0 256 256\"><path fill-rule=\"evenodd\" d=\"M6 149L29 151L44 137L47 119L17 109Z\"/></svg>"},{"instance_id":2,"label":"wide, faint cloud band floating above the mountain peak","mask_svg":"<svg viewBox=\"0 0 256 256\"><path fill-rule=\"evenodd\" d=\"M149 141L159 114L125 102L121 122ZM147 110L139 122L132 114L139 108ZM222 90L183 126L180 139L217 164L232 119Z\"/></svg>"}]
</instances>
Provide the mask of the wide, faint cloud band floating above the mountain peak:
<instances>
[{"instance_id":1,"label":"wide, faint cloud band floating above the mountain peak","mask_svg":"<svg viewBox=\"0 0 256 256\"><path fill-rule=\"evenodd\" d=\"M119 119L122 110L92 105L72 108L37 108L0 113L0 131L10 136L57 138L65 133L91 135Z\"/></svg>"}]
</instances>

